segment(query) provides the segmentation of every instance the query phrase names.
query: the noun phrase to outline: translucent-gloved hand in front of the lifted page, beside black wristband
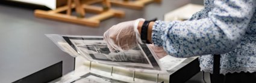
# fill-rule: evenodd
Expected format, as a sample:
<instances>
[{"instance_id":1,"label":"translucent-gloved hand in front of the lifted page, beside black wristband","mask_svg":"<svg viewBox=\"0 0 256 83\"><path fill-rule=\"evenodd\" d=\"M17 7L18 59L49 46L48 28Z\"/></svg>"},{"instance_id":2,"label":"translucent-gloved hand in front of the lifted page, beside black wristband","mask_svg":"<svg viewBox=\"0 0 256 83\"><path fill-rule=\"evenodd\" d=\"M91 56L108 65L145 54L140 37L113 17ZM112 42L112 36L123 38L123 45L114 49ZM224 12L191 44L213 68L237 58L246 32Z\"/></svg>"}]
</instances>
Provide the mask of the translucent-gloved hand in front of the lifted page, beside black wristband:
<instances>
[{"instance_id":1,"label":"translucent-gloved hand in front of the lifted page, beside black wristband","mask_svg":"<svg viewBox=\"0 0 256 83\"><path fill-rule=\"evenodd\" d=\"M107 42L111 52L116 50L127 51L136 47L139 43L142 44L140 33L137 29L139 21L145 21L145 19L116 24L104 33L104 40Z\"/></svg>"}]
</instances>

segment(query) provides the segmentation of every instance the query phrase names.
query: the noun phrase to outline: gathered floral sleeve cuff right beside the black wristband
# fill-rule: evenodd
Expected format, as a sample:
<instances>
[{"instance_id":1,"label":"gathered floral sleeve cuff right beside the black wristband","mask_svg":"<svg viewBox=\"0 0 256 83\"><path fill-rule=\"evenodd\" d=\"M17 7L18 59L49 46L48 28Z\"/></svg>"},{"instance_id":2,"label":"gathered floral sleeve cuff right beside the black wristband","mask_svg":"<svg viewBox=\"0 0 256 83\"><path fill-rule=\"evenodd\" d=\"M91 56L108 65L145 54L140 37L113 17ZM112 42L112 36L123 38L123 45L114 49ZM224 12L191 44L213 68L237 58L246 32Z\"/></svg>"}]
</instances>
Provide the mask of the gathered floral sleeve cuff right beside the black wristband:
<instances>
[{"instance_id":1,"label":"gathered floral sleeve cuff right beside the black wristband","mask_svg":"<svg viewBox=\"0 0 256 83\"><path fill-rule=\"evenodd\" d=\"M166 28L166 23L161 20L155 21L152 29L152 42L157 47L163 46L163 40L161 39L161 36L164 34L164 29Z\"/></svg>"}]
</instances>

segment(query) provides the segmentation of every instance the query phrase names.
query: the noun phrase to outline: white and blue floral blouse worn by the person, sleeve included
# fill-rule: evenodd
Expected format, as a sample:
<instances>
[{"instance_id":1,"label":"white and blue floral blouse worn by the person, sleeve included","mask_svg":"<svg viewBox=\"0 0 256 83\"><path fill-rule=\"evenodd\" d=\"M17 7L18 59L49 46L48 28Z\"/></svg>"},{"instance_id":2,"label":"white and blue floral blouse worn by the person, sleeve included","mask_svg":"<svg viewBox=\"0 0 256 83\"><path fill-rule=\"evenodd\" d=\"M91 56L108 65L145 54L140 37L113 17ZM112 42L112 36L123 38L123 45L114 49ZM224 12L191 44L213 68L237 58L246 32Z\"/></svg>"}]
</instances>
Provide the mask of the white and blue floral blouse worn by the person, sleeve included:
<instances>
[{"instance_id":1,"label":"white and blue floral blouse worn by the person, sleeve included","mask_svg":"<svg viewBox=\"0 0 256 83\"><path fill-rule=\"evenodd\" d=\"M201 70L256 72L256 1L205 0L205 8L186 21L155 21L152 41L174 57L201 56ZM204 56L202 56L204 55Z\"/></svg>"}]
</instances>

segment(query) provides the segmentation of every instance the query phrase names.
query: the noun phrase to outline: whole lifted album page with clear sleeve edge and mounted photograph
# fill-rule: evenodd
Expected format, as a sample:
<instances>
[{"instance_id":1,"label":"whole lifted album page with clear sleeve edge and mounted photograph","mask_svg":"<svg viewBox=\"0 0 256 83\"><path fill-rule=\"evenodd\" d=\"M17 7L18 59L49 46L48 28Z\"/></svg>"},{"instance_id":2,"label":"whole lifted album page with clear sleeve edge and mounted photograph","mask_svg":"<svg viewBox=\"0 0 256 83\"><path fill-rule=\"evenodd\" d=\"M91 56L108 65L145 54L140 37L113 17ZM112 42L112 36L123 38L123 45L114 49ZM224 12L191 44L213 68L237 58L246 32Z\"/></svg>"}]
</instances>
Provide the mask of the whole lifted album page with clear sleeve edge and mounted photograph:
<instances>
[{"instance_id":1,"label":"whole lifted album page with clear sleeve edge and mounted photograph","mask_svg":"<svg viewBox=\"0 0 256 83\"><path fill-rule=\"evenodd\" d=\"M121 52L116 51L117 56L125 56L126 60L111 60L110 51L102 36L78 36L78 35L46 35L58 47L70 54L70 56L82 56L84 59L109 64L111 66L119 66L125 68L147 69L147 70L162 70L158 59L146 44L138 44L133 50ZM136 56L134 56L136 55ZM131 57L134 56L134 57ZM130 58L127 58L130 57Z\"/></svg>"}]
</instances>

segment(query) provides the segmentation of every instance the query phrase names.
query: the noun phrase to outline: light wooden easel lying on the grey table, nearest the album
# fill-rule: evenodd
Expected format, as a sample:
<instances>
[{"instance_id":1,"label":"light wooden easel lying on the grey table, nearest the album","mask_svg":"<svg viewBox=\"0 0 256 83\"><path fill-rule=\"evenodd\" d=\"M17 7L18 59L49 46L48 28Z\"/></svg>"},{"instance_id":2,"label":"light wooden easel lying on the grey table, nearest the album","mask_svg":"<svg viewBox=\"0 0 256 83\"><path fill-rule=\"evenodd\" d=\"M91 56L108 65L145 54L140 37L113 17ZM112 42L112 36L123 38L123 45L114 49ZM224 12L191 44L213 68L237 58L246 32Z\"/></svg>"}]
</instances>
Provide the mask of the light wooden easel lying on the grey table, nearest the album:
<instances>
[{"instance_id":1,"label":"light wooden easel lying on the grey table, nearest the album","mask_svg":"<svg viewBox=\"0 0 256 83\"><path fill-rule=\"evenodd\" d=\"M98 2L101 2L102 7L92 5ZM75 8L76 16L72 16L73 8ZM86 17L86 13L96 13L96 15ZM99 26L102 20L110 17L123 17L125 15L123 11L111 9L110 0L67 0L66 6L49 11L35 10L34 14L36 17L45 19L60 20L93 27Z\"/></svg>"}]
</instances>

